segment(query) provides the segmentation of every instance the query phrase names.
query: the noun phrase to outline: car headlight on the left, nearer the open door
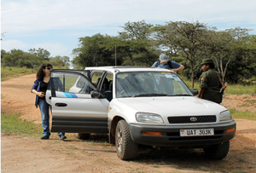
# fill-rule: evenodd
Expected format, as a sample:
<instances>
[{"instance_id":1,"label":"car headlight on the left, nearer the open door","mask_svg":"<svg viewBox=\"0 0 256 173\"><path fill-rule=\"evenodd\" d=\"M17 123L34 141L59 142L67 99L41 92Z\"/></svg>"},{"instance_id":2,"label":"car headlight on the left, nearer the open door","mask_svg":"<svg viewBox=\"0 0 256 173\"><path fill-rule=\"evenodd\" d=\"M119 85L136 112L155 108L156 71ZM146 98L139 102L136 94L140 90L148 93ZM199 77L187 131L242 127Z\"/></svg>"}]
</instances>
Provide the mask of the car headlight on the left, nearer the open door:
<instances>
[{"instance_id":1,"label":"car headlight on the left, nearer the open door","mask_svg":"<svg viewBox=\"0 0 256 173\"><path fill-rule=\"evenodd\" d=\"M163 118L160 115L148 112L137 112L136 113L137 121L140 123L164 123Z\"/></svg>"}]
</instances>

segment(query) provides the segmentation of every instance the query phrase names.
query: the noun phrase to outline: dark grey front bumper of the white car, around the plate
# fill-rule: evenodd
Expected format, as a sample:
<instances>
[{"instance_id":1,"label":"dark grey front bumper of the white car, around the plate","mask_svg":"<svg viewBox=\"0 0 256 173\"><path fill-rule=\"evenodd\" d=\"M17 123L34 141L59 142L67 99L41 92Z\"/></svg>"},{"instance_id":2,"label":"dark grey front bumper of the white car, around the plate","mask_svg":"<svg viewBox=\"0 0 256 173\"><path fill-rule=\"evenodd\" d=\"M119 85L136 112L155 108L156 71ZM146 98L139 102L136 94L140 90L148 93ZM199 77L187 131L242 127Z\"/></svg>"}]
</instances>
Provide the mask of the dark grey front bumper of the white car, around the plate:
<instances>
[{"instance_id":1,"label":"dark grey front bumper of the white car, around the plate","mask_svg":"<svg viewBox=\"0 0 256 173\"><path fill-rule=\"evenodd\" d=\"M179 135L180 130L193 129L214 129L214 136L186 136ZM207 124L207 125L145 125L129 124L131 139L138 144L160 147L204 147L212 144L219 144L229 141L236 135L236 130L226 133L226 130L236 129L236 122L224 124ZM161 132L162 136L143 135L142 131Z\"/></svg>"}]
</instances>

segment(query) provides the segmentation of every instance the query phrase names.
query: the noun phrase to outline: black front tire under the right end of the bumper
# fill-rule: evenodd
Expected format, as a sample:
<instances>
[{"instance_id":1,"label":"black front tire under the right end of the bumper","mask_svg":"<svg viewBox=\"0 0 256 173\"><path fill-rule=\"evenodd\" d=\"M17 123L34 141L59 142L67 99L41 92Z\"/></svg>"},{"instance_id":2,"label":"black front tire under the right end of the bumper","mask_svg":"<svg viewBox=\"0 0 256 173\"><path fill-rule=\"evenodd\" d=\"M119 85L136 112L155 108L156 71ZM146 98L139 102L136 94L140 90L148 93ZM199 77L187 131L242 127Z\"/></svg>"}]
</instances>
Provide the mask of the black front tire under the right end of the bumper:
<instances>
[{"instance_id":1,"label":"black front tire under the right end of the bumper","mask_svg":"<svg viewBox=\"0 0 256 173\"><path fill-rule=\"evenodd\" d=\"M209 159L224 159L230 151L230 141L204 148Z\"/></svg>"}]
</instances>

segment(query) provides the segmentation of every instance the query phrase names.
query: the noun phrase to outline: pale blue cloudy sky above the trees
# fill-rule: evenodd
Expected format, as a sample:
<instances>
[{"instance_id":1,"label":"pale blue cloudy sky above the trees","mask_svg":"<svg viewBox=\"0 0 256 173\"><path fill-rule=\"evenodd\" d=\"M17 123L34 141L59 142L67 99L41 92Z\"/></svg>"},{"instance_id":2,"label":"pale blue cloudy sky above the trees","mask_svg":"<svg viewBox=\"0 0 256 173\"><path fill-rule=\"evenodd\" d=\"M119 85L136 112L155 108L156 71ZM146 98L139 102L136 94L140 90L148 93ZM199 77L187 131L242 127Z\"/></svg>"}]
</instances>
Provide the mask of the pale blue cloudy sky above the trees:
<instances>
[{"instance_id":1,"label":"pale blue cloudy sky above the trees","mask_svg":"<svg viewBox=\"0 0 256 173\"><path fill-rule=\"evenodd\" d=\"M235 27L256 34L255 0L0 0L0 49L46 49L69 56L79 37L118 36L128 21L198 20L218 30ZM4 33L4 34L3 34Z\"/></svg>"}]
</instances>

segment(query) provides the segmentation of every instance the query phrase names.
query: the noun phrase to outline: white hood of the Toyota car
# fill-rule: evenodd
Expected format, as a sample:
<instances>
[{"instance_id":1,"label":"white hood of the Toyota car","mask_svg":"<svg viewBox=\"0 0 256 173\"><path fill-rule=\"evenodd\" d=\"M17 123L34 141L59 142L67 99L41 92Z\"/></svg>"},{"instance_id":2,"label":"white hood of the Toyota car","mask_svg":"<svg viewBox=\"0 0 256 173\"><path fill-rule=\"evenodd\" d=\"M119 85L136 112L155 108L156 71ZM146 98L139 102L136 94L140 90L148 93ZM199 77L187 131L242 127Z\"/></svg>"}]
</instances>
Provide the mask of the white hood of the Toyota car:
<instances>
[{"instance_id":1,"label":"white hood of the Toyota car","mask_svg":"<svg viewBox=\"0 0 256 173\"><path fill-rule=\"evenodd\" d=\"M218 115L227 110L212 101L195 96L130 97L119 99L137 112L152 112L166 116L177 115Z\"/></svg>"}]
</instances>

